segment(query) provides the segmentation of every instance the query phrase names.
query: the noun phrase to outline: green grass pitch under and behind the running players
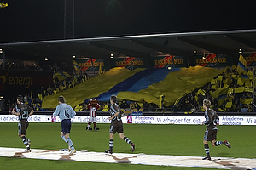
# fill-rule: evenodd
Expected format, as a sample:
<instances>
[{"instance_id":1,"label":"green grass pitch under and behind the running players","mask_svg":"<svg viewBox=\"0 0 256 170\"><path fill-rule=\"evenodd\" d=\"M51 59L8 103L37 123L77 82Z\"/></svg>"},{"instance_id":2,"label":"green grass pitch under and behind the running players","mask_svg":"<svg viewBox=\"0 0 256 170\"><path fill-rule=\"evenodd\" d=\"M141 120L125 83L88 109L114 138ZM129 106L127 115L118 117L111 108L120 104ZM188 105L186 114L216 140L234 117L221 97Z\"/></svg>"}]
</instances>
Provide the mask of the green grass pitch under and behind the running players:
<instances>
[{"instance_id":1,"label":"green grass pitch under and behind the running players","mask_svg":"<svg viewBox=\"0 0 256 170\"><path fill-rule=\"evenodd\" d=\"M24 148L17 135L17 122L1 122L1 147ZM86 131L86 123L73 123L70 138L76 150L103 152L108 150L109 124L98 124L99 131ZM92 127L92 125L91 125ZM172 156L205 156L202 144L206 126L202 125L143 125L124 124L125 136L136 144L134 153ZM227 139L232 145L213 147L212 157L256 158L256 126L218 126L218 140ZM60 123L30 123L26 136L32 140L32 149L56 150L67 148L60 137ZM113 152L131 153L130 145L115 134ZM35 160L0 157L0 169L202 169L117 163Z\"/></svg>"}]
</instances>

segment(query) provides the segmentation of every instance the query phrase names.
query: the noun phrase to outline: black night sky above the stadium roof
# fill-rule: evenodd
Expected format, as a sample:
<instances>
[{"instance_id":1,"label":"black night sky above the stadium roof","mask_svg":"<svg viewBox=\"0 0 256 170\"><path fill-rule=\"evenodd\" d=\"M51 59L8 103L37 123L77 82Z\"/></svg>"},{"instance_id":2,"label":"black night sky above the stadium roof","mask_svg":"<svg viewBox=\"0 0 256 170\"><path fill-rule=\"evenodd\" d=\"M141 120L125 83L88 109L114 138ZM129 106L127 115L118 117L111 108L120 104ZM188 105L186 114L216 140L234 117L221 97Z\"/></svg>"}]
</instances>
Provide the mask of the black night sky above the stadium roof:
<instances>
[{"instance_id":1,"label":"black night sky above the stadium roof","mask_svg":"<svg viewBox=\"0 0 256 170\"><path fill-rule=\"evenodd\" d=\"M256 28L253 1L74 0L75 38ZM0 42L63 39L64 0L0 0Z\"/></svg>"}]
</instances>

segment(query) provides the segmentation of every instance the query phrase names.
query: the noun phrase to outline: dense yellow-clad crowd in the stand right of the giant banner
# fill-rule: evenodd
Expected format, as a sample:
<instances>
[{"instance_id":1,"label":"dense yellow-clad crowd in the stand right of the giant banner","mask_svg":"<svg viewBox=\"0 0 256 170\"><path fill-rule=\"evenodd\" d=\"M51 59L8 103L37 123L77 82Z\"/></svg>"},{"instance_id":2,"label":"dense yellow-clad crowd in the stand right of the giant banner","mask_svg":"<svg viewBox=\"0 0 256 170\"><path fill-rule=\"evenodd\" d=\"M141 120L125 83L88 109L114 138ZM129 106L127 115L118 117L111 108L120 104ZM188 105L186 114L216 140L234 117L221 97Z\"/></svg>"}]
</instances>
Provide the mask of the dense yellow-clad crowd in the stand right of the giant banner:
<instances>
[{"instance_id":1,"label":"dense yellow-clad crowd in the stand right of the giant banner","mask_svg":"<svg viewBox=\"0 0 256 170\"><path fill-rule=\"evenodd\" d=\"M185 95L178 105L173 105L173 110L203 111L203 99L210 99L215 111L253 111L253 71L247 71L247 76L243 78L236 68L226 68L211 82Z\"/></svg>"}]
</instances>

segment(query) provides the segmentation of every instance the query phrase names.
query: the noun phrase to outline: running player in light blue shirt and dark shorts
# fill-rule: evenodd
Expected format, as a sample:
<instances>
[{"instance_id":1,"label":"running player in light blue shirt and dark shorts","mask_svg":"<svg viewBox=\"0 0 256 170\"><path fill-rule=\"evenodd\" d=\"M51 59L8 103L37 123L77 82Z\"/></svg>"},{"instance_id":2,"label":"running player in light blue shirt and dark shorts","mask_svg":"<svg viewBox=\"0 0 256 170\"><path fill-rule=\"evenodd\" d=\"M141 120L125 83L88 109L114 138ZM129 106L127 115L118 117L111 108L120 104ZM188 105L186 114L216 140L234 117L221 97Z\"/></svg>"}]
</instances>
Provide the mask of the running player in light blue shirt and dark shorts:
<instances>
[{"instance_id":1,"label":"running player in light blue shirt and dark shorts","mask_svg":"<svg viewBox=\"0 0 256 170\"><path fill-rule=\"evenodd\" d=\"M61 139L63 139L68 144L69 155L76 153L76 150L73 147L73 142L69 138L69 133L71 129L71 118L76 115L76 112L73 111L73 108L70 105L67 105L65 98L60 96L59 104L56 107L56 111L53 113L53 116L59 116L61 119Z\"/></svg>"}]
</instances>

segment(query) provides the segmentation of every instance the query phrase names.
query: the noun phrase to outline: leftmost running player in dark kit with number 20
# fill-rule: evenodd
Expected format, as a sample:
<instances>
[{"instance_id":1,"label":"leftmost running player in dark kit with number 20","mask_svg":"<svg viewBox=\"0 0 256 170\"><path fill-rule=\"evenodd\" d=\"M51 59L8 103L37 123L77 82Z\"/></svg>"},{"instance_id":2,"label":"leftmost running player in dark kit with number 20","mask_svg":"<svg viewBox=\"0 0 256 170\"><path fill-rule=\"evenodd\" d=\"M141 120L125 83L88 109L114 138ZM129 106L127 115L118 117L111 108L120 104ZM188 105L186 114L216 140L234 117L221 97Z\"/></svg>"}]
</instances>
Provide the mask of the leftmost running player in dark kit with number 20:
<instances>
[{"instance_id":1,"label":"leftmost running player in dark kit with number 20","mask_svg":"<svg viewBox=\"0 0 256 170\"><path fill-rule=\"evenodd\" d=\"M15 106L15 109L17 112L15 112L15 110L13 109L12 114L19 116L18 135L22 139L23 144L26 145L25 151L30 152L31 151L31 149L30 149L31 141L30 141L30 139L26 138L26 129L29 125L27 118L29 116L32 116L34 111L32 110L32 108L29 105L26 105L23 102L24 102L23 97L21 95L18 95L17 105Z\"/></svg>"}]
</instances>

